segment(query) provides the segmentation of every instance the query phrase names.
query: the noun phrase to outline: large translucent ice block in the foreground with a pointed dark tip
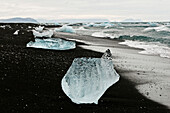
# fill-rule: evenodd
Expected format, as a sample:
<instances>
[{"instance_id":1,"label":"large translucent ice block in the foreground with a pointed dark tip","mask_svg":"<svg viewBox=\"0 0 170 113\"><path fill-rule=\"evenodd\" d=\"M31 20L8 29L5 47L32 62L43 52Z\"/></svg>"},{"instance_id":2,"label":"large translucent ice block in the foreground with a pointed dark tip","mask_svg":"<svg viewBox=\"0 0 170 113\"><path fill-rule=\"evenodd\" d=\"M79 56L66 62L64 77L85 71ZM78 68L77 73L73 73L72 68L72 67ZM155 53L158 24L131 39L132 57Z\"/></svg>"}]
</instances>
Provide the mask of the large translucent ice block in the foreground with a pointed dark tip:
<instances>
[{"instance_id":1,"label":"large translucent ice block in the foreground with a pointed dark tip","mask_svg":"<svg viewBox=\"0 0 170 113\"><path fill-rule=\"evenodd\" d=\"M102 58L75 58L63 77L64 93L76 104L98 104L104 92L119 80L108 50Z\"/></svg>"}]
</instances>

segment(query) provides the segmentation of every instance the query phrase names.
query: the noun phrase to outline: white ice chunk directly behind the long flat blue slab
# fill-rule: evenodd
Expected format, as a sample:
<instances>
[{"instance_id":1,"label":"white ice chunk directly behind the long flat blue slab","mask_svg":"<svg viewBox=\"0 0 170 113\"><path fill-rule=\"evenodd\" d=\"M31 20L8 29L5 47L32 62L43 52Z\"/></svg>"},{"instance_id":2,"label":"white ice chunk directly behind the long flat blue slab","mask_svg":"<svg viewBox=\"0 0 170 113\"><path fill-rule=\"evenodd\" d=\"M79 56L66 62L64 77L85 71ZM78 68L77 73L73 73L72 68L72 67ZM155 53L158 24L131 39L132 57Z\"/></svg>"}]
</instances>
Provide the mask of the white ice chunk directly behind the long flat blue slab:
<instances>
[{"instance_id":1,"label":"white ice chunk directly behind the long flat blue slab","mask_svg":"<svg viewBox=\"0 0 170 113\"><path fill-rule=\"evenodd\" d=\"M51 38L53 36L53 30L44 31L42 33L32 30L34 37L47 37Z\"/></svg>"}]
</instances>

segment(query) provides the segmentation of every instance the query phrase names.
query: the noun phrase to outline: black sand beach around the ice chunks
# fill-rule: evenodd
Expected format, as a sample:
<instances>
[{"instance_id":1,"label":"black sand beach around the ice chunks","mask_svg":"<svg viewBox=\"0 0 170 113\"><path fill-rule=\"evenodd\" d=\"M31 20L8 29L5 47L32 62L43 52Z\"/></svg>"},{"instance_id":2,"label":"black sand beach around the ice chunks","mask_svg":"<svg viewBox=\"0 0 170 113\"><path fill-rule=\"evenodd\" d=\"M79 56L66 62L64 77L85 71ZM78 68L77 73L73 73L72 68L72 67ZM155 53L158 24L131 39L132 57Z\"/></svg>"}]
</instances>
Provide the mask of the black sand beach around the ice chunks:
<instances>
[{"instance_id":1,"label":"black sand beach around the ice chunks","mask_svg":"<svg viewBox=\"0 0 170 113\"><path fill-rule=\"evenodd\" d=\"M170 113L167 107L141 95L135 85L123 77L105 92L98 105L72 103L61 89L62 77L74 58L98 58L102 53L80 47L67 51L26 48L34 38L32 32L25 29L35 25L10 26L12 28L0 28L0 112ZM21 32L14 36L18 29Z\"/></svg>"}]
</instances>

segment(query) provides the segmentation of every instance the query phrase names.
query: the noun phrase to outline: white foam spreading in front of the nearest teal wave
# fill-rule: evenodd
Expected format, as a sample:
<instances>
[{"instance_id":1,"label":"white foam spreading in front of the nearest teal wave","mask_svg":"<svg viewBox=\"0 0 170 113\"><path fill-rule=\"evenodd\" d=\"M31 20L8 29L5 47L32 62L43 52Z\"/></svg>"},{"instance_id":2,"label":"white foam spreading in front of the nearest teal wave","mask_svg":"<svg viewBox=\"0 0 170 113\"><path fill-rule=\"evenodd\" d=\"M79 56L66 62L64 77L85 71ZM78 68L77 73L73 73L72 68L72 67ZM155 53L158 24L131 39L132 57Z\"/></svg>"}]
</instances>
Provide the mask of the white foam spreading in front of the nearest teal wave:
<instances>
[{"instance_id":1,"label":"white foam spreading in front of the nearest teal wave","mask_svg":"<svg viewBox=\"0 0 170 113\"><path fill-rule=\"evenodd\" d=\"M170 48L163 45L129 40L120 42L119 44L144 49L143 51L139 52L141 54L159 55L160 57L170 58Z\"/></svg>"}]
</instances>

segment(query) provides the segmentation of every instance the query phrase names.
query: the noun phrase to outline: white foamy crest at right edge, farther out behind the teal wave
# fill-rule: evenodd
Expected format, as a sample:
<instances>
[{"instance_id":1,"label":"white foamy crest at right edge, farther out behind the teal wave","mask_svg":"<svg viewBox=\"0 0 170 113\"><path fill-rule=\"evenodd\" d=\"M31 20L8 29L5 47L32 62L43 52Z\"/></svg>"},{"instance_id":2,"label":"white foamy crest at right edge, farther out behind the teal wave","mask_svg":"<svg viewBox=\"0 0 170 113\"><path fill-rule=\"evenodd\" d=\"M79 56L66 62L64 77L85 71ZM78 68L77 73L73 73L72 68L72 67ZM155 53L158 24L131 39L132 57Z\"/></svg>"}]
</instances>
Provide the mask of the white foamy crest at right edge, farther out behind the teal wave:
<instances>
[{"instance_id":1,"label":"white foamy crest at right edge, farther out behind the teal wave","mask_svg":"<svg viewBox=\"0 0 170 113\"><path fill-rule=\"evenodd\" d=\"M157 32L161 32L161 31L166 31L166 32L170 32L170 28L164 26L164 25L161 25L159 27L148 27L148 28L145 28L143 30L144 32L150 32L150 31L157 31Z\"/></svg>"}]
</instances>

